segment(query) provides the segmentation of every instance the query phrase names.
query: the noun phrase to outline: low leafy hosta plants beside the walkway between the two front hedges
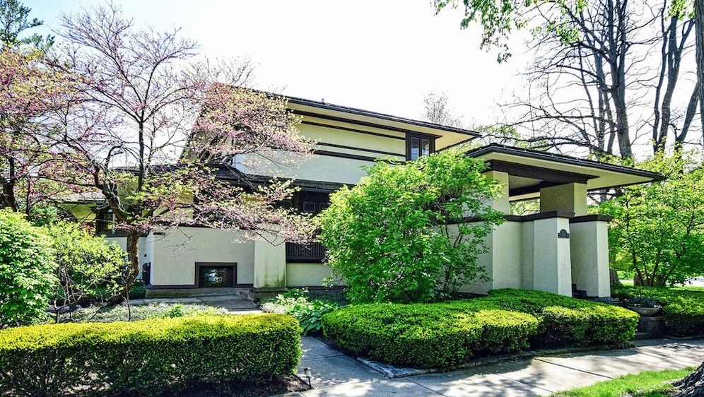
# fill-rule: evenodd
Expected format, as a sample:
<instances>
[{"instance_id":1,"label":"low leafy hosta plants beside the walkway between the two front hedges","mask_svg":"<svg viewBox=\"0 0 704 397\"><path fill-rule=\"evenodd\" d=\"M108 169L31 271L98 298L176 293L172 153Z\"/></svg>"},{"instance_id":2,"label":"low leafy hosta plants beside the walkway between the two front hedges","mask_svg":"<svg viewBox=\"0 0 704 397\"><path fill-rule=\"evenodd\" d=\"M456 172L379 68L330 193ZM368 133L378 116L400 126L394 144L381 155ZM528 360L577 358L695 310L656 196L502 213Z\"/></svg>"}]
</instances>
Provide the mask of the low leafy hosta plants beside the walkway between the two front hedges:
<instances>
[{"instance_id":1,"label":"low leafy hosta plants beside the walkway between the two front hedges","mask_svg":"<svg viewBox=\"0 0 704 397\"><path fill-rule=\"evenodd\" d=\"M325 314L339 309L340 305L329 300L310 300L305 288L293 289L276 295L274 299L264 302L262 310L269 313L291 314L298 320L303 335L317 333L322 328L322 318Z\"/></svg>"}]
</instances>

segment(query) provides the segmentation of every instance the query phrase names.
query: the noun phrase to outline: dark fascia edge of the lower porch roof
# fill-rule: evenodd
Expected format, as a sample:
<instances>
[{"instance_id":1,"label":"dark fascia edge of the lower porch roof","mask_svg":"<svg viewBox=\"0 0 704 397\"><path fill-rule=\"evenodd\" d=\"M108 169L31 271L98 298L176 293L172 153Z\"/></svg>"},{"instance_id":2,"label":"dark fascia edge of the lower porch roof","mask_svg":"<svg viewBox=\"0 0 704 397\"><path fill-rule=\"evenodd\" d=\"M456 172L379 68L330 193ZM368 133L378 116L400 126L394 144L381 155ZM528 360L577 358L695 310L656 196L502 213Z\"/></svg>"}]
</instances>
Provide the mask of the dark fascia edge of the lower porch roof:
<instances>
[{"instance_id":1,"label":"dark fascia edge of the lower porch roof","mask_svg":"<svg viewBox=\"0 0 704 397\"><path fill-rule=\"evenodd\" d=\"M638 170L638 168L625 167L623 165L609 164L606 162L599 162L594 160L585 160L582 158L575 158L568 155L558 155L555 153L541 152L539 150L531 150L524 148L515 148L512 146L500 145L498 143L491 143L488 146L483 146L481 148L476 148L469 150L467 155L470 157L479 157L481 155L486 155L488 153L502 153L507 155L517 155L525 158L533 158L536 160L546 160L553 162L561 162L568 165L577 165L580 167L592 167L598 168L600 170L621 172L622 174L630 174L638 177L651 178L655 181L664 181L667 179L663 174L658 174L657 172L650 172L645 170Z\"/></svg>"}]
</instances>

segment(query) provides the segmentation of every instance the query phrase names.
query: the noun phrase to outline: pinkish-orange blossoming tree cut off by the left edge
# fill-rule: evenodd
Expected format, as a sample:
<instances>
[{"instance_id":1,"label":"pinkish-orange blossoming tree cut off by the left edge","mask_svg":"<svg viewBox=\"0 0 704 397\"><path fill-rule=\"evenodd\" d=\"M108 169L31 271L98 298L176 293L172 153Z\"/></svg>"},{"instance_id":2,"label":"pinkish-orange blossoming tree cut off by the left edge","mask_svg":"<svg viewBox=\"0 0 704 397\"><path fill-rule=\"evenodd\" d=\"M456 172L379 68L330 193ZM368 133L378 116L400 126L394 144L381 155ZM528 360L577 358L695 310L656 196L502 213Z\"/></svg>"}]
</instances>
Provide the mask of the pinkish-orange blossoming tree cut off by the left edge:
<instances>
[{"instance_id":1,"label":"pinkish-orange blossoming tree cut off by the left edge","mask_svg":"<svg viewBox=\"0 0 704 397\"><path fill-rule=\"evenodd\" d=\"M56 174L61 159L45 121L72 85L70 78L42 66L42 56L36 50L0 49L0 208L26 213L61 190L44 179Z\"/></svg>"}]
</instances>

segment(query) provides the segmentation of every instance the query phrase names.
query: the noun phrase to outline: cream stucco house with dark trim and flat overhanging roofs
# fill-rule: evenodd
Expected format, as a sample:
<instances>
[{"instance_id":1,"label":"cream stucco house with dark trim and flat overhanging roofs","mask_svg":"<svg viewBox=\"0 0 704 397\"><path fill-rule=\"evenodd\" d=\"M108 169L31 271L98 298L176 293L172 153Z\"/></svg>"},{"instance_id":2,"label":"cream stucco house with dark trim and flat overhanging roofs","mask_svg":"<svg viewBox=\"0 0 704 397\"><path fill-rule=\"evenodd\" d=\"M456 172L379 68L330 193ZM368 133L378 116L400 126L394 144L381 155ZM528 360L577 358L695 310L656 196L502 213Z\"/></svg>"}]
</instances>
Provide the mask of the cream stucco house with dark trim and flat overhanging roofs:
<instances>
[{"instance_id":1,"label":"cream stucco house with dark trim and flat overhanging roofs","mask_svg":"<svg viewBox=\"0 0 704 397\"><path fill-rule=\"evenodd\" d=\"M363 167L376 159L414 160L479 137L466 129L295 97L289 98L289 107L302 119L300 134L316 142L315 155L279 173L295 177L300 191L291 205L307 213L326 208L332 191L356 184L365 174ZM467 285L465 291L527 288L610 295L609 218L587 215L587 191L652 182L662 179L659 174L500 145L467 155L486 160L486 176L503 184L503 197L491 206L503 211L506 221L488 236L489 251L480 258L491 280ZM511 215L510 202L527 198L539 198L539 213ZM99 200L76 201L74 212L91 213ZM125 237L112 231L109 212L95 213L95 221L98 232L124 247ZM240 288L257 297L322 286L330 273L324 249L280 243L244 240L237 232L205 227L151 232L139 242L141 262L148 265L142 278L150 296Z\"/></svg>"}]
</instances>

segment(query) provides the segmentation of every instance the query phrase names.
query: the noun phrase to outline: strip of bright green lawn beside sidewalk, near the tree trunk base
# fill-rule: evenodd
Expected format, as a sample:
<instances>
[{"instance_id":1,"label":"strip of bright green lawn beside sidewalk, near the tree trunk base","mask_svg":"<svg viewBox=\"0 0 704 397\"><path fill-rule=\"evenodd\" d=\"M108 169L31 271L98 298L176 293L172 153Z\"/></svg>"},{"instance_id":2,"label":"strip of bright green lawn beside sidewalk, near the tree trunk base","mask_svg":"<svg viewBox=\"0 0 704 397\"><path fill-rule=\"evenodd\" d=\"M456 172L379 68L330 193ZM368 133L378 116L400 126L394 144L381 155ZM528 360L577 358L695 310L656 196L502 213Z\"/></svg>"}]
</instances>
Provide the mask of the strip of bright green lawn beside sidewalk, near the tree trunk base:
<instances>
[{"instance_id":1,"label":"strip of bright green lawn beside sidewalk, near the tree trunk base","mask_svg":"<svg viewBox=\"0 0 704 397\"><path fill-rule=\"evenodd\" d=\"M674 388L672 381L686 377L694 368L647 371L626 375L592 386L555 393L553 397L667 397Z\"/></svg>"}]
</instances>

